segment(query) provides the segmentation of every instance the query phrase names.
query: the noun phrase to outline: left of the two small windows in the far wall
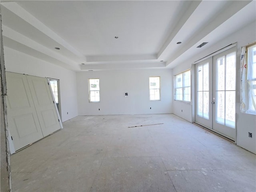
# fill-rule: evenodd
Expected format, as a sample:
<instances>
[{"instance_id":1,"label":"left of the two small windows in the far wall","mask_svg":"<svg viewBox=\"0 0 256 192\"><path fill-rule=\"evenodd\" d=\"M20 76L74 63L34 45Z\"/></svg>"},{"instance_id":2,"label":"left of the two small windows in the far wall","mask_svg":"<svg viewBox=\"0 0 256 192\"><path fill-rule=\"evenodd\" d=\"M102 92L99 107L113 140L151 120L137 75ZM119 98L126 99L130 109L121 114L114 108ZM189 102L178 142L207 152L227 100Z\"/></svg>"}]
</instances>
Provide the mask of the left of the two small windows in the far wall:
<instances>
[{"instance_id":1,"label":"left of the two small windows in the far wall","mask_svg":"<svg viewBox=\"0 0 256 192\"><path fill-rule=\"evenodd\" d=\"M89 79L89 102L100 102L100 79Z\"/></svg>"}]
</instances>

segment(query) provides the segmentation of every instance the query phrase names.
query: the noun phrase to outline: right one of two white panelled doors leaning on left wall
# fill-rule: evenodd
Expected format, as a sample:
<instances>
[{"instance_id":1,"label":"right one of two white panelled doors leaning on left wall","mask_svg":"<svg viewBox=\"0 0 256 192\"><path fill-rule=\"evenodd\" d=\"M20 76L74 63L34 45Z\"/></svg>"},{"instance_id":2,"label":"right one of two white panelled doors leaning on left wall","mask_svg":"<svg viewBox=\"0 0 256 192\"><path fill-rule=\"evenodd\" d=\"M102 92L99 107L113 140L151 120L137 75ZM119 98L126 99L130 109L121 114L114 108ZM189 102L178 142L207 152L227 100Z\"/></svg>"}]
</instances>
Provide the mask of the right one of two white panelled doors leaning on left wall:
<instances>
[{"instance_id":1,"label":"right one of two white panelled doors leaning on left wall","mask_svg":"<svg viewBox=\"0 0 256 192\"><path fill-rule=\"evenodd\" d=\"M27 76L42 133L45 136L61 129L47 78Z\"/></svg>"}]
</instances>

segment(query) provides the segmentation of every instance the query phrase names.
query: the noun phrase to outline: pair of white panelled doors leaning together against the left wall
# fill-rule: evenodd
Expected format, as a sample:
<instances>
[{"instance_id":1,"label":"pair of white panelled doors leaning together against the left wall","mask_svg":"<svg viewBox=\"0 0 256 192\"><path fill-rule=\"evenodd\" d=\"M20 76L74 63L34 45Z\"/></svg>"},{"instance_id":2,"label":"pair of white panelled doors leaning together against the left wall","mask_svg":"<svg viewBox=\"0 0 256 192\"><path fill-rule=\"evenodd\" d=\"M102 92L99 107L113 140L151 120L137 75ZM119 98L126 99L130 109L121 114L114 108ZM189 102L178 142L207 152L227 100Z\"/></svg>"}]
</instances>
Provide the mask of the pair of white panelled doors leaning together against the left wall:
<instances>
[{"instance_id":1,"label":"pair of white panelled doors leaning together against the left wall","mask_svg":"<svg viewBox=\"0 0 256 192\"><path fill-rule=\"evenodd\" d=\"M6 72L8 127L15 151L60 130L47 78Z\"/></svg>"}]
</instances>

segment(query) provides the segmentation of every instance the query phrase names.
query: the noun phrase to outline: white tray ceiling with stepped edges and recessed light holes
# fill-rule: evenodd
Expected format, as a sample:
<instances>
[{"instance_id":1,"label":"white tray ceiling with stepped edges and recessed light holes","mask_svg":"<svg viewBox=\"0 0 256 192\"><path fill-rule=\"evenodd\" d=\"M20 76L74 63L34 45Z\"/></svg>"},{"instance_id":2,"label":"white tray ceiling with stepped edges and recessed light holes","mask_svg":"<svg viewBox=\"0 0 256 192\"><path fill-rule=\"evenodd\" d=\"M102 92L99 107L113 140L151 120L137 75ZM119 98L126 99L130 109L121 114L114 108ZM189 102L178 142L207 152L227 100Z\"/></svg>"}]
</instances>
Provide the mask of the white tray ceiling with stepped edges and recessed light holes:
<instances>
[{"instance_id":1,"label":"white tray ceiling with stepped edges and recessed light holes","mask_svg":"<svg viewBox=\"0 0 256 192\"><path fill-rule=\"evenodd\" d=\"M255 22L256 1L6 0L1 15L4 46L70 70L173 68Z\"/></svg>"}]
</instances>

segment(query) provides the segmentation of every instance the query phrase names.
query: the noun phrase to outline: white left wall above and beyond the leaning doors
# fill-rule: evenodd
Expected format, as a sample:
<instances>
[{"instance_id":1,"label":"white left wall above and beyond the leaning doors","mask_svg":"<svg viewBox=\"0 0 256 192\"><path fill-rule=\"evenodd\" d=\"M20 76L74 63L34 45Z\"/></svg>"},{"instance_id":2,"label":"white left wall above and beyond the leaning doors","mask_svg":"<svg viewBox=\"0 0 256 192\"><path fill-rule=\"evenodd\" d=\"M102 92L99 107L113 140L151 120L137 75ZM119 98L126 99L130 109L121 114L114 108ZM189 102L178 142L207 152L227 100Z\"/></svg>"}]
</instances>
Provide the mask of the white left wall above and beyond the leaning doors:
<instances>
[{"instance_id":1,"label":"white left wall above and beyond the leaning doors","mask_svg":"<svg viewBox=\"0 0 256 192\"><path fill-rule=\"evenodd\" d=\"M8 47L4 47L4 60L6 71L59 79L62 122L77 116L76 72Z\"/></svg>"}]
</instances>

